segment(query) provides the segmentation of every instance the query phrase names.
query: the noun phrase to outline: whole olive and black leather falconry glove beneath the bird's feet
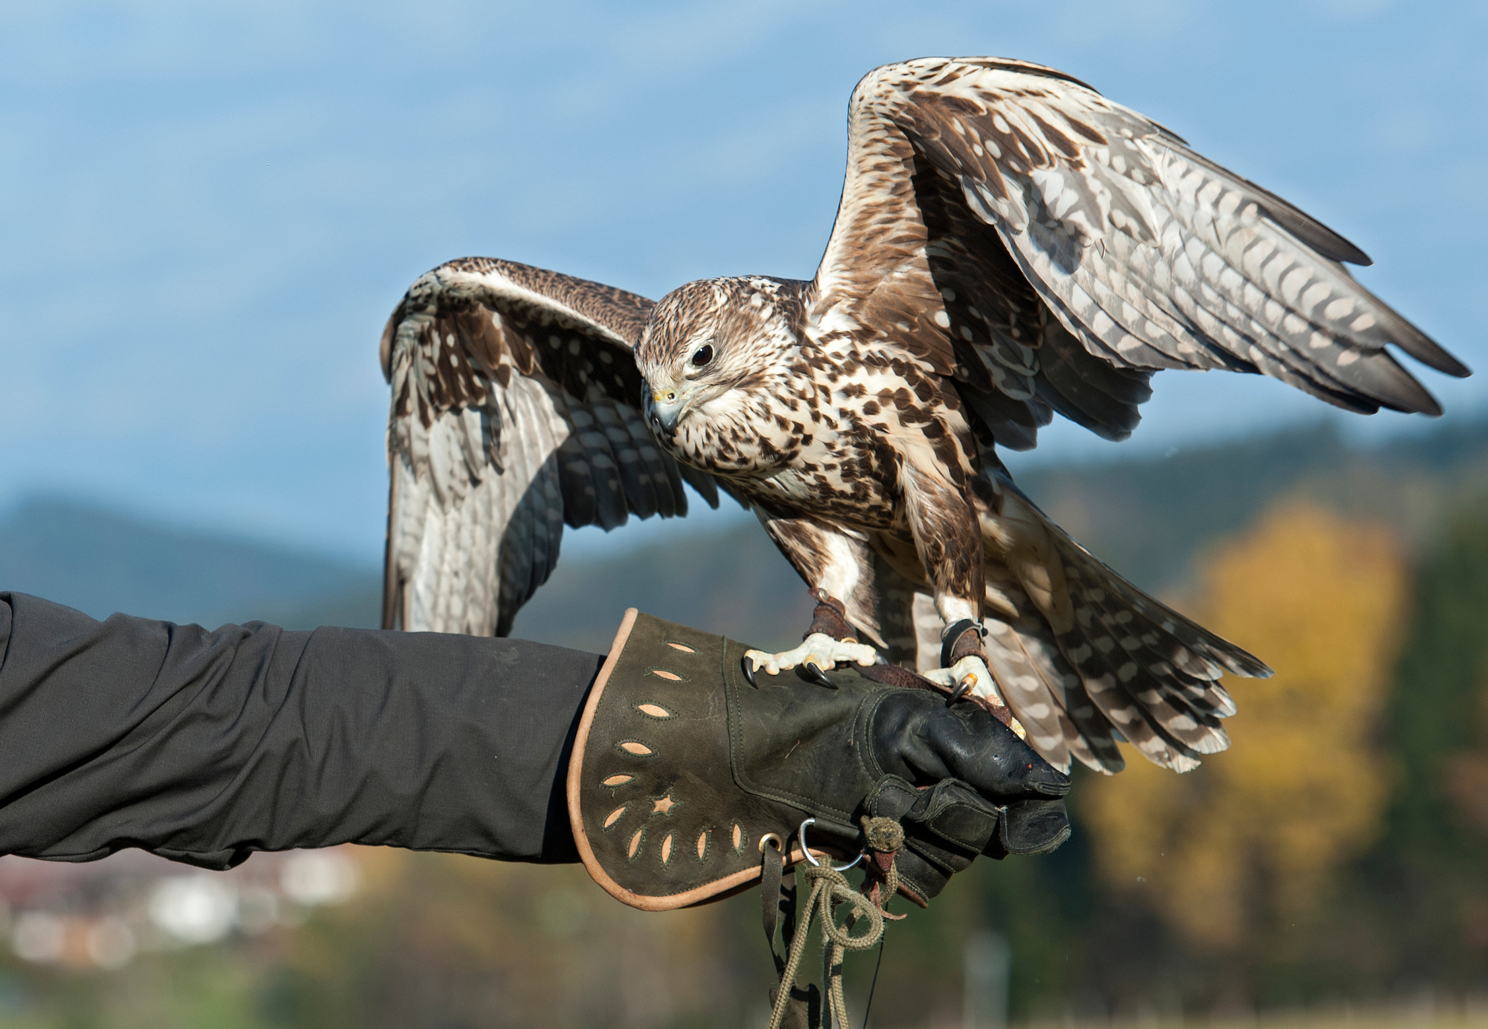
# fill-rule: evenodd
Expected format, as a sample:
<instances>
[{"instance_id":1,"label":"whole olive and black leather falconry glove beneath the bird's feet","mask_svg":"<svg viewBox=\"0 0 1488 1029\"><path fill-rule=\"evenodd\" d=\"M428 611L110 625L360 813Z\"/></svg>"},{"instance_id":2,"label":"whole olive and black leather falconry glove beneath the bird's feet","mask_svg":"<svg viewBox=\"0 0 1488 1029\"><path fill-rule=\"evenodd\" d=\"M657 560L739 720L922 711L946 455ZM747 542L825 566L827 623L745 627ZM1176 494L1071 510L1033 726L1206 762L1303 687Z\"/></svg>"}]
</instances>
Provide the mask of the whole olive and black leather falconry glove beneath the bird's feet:
<instances>
[{"instance_id":1,"label":"whole olive and black leather falconry glove beneath the bird's feet","mask_svg":"<svg viewBox=\"0 0 1488 1029\"><path fill-rule=\"evenodd\" d=\"M589 874L668 910L783 864L865 851L865 816L903 827L900 891L924 904L978 854L1052 851L1068 779L973 703L856 668L757 675L745 647L626 613L583 709L568 813ZM802 842L799 827L815 824ZM775 862L778 874L781 862Z\"/></svg>"}]
</instances>

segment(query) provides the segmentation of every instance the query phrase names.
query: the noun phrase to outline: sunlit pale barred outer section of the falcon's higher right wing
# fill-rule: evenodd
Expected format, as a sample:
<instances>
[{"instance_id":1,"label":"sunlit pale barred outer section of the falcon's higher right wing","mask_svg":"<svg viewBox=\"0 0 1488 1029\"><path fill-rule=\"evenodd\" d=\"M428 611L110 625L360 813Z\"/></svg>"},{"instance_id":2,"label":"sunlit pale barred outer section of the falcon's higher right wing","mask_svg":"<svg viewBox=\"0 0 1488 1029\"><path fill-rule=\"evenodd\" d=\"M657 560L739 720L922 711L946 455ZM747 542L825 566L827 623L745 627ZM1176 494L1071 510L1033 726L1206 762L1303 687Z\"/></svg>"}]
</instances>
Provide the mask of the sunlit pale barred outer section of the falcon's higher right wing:
<instances>
[{"instance_id":1,"label":"sunlit pale barred outer section of the falcon's higher right wing","mask_svg":"<svg viewBox=\"0 0 1488 1029\"><path fill-rule=\"evenodd\" d=\"M1467 369L1348 275L1369 263L1281 198L1067 76L911 61L859 86L1083 349L1119 369L1259 372L1329 403L1440 413L1385 349ZM868 112L872 112L868 114Z\"/></svg>"}]
</instances>

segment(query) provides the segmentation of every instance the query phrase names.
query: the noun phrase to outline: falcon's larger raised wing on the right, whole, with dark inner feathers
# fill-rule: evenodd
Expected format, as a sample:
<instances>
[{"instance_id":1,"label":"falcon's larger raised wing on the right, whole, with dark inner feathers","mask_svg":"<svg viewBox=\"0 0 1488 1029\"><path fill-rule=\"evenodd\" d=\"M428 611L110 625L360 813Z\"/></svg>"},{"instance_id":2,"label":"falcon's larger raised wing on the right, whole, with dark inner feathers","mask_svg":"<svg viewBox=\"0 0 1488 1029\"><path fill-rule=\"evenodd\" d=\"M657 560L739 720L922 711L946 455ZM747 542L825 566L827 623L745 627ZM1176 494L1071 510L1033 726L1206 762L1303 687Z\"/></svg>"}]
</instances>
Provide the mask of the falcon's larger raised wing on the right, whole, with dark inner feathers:
<instances>
[{"instance_id":1,"label":"falcon's larger raised wing on the right, whole, with dark inner feathers","mask_svg":"<svg viewBox=\"0 0 1488 1029\"><path fill-rule=\"evenodd\" d=\"M952 373L997 443L1059 412L1123 439L1159 369L1440 413L1385 349L1467 369L1364 290L1357 247L1058 71L924 58L868 74L812 317Z\"/></svg>"}]
</instances>

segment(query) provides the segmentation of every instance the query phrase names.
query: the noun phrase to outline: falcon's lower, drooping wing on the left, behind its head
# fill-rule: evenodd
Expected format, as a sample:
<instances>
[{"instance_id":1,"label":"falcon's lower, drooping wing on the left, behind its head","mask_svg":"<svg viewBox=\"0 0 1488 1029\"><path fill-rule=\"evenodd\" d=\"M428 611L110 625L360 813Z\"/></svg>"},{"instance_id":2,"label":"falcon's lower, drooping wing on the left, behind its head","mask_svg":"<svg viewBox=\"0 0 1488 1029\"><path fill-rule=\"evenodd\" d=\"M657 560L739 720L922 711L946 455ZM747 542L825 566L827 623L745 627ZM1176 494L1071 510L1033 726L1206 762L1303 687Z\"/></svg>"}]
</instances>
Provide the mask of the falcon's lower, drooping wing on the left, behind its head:
<instances>
[{"instance_id":1,"label":"falcon's lower, drooping wing on the left, behind its head","mask_svg":"<svg viewBox=\"0 0 1488 1029\"><path fill-rule=\"evenodd\" d=\"M652 442L631 349L652 302L469 257L421 277L382 332L388 415L382 626L506 635L564 523L684 514L710 476Z\"/></svg>"}]
</instances>

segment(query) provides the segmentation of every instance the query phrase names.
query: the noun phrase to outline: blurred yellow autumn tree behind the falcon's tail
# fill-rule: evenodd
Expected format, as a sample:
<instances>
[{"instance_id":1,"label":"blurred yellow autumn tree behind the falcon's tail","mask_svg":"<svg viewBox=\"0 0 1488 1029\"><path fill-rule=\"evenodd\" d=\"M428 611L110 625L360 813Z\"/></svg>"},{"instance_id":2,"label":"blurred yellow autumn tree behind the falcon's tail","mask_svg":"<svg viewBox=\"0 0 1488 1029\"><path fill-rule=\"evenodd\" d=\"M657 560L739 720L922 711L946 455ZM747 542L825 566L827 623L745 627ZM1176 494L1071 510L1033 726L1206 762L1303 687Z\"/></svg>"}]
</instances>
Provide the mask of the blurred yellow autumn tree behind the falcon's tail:
<instances>
[{"instance_id":1,"label":"blurred yellow autumn tree behind the falcon's tail","mask_svg":"<svg viewBox=\"0 0 1488 1029\"><path fill-rule=\"evenodd\" d=\"M1314 909L1330 868L1379 827L1390 769L1375 735L1406 590L1387 531L1303 503L1222 549L1193 614L1277 674L1226 680L1234 742L1196 772L1129 752L1125 772L1086 782L1107 879L1216 950Z\"/></svg>"}]
</instances>

